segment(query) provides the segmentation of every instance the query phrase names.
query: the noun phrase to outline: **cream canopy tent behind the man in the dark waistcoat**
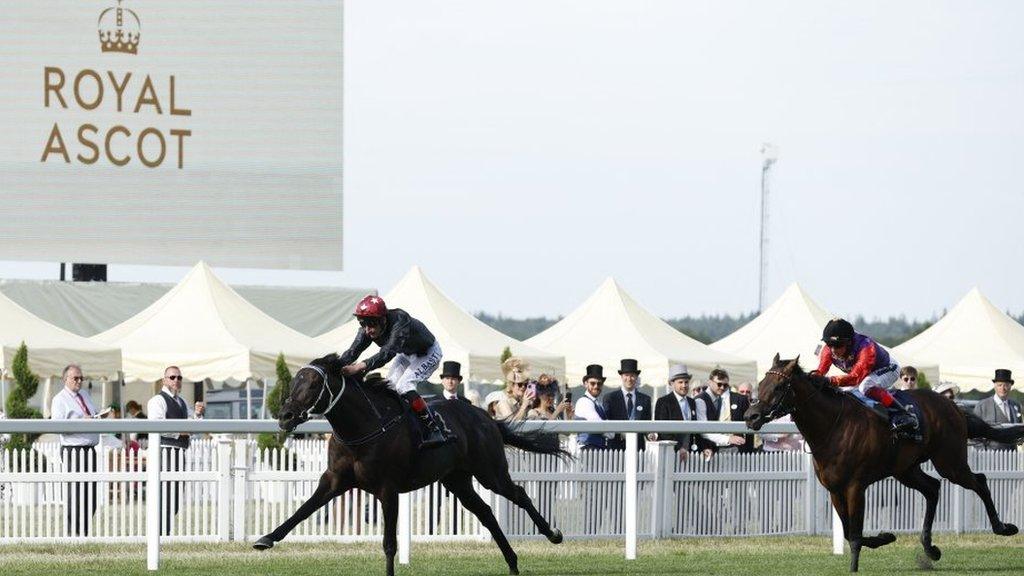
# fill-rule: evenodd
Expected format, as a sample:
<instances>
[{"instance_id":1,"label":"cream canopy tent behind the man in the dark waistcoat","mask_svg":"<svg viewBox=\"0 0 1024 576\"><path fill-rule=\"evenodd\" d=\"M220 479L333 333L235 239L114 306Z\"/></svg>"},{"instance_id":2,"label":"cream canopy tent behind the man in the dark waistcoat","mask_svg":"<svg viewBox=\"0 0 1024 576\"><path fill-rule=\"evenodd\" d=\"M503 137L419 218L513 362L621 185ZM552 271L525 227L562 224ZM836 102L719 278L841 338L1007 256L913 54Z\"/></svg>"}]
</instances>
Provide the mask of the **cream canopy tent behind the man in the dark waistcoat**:
<instances>
[{"instance_id":1,"label":"cream canopy tent behind the man in the dark waistcoat","mask_svg":"<svg viewBox=\"0 0 1024 576\"><path fill-rule=\"evenodd\" d=\"M124 355L126 380L156 381L176 365L188 380L275 377L280 353L293 370L330 351L273 320L200 262L159 300L93 336Z\"/></svg>"}]
</instances>

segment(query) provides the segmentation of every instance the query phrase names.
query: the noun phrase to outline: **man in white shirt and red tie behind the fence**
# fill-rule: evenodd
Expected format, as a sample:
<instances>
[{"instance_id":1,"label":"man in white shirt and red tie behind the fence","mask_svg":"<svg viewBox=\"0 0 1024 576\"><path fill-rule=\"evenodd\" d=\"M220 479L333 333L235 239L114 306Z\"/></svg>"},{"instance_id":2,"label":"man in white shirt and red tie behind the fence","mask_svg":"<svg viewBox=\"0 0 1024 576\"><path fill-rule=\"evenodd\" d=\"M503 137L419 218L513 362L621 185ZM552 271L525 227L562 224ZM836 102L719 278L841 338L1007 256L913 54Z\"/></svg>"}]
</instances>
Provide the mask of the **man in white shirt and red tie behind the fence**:
<instances>
[{"instance_id":1,"label":"man in white shirt and red tie behind the fence","mask_svg":"<svg viewBox=\"0 0 1024 576\"><path fill-rule=\"evenodd\" d=\"M77 364L69 364L62 372L63 388L50 402L50 418L54 420L77 420L93 418L96 407L89 393L82 389L82 369ZM99 435L60 435L60 459L66 472L91 472L96 469L96 444ZM69 482L65 497L65 517L70 536L88 536L89 523L96 510L96 483Z\"/></svg>"}]
</instances>

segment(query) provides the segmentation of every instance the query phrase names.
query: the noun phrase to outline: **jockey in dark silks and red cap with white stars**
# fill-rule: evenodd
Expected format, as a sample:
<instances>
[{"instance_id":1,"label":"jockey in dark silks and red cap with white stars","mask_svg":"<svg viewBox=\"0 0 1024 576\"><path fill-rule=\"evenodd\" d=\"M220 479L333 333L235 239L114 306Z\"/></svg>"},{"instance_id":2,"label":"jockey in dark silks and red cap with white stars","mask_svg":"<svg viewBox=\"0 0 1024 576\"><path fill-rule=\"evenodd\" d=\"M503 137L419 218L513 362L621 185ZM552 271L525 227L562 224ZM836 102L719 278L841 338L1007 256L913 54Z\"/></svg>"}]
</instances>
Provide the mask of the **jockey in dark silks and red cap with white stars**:
<instances>
[{"instance_id":1,"label":"jockey in dark silks and red cap with white stars","mask_svg":"<svg viewBox=\"0 0 1024 576\"><path fill-rule=\"evenodd\" d=\"M406 311L387 310L380 296L371 294L359 300L354 316L359 321L359 332L352 345L341 355L342 373L346 376L366 373L394 359L387 379L420 418L424 430L420 448L432 448L455 440L416 392L416 383L429 378L440 364L441 346L437 338ZM362 362L355 362L371 342L380 346L380 351Z\"/></svg>"}]
</instances>

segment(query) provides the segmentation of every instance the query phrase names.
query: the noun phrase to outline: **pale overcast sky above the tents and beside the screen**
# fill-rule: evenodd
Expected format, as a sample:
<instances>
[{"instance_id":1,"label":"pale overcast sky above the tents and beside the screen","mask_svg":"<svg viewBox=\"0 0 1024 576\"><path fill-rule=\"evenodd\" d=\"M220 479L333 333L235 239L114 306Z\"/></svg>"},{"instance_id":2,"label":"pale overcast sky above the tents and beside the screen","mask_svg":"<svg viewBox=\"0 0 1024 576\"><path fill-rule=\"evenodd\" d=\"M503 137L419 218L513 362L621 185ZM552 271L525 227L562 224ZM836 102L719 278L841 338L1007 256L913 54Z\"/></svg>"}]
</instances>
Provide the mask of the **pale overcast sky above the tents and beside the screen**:
<instances>
[{"instance_id":1,"label":"pale overcast sky above the tents and beside the screen","mask_svg":"<svg viewBox=\"0 0 1024 576\"><path fill-rule=\"evenodd\" d=\"M344 26L346 270L229 282L420 264L470 311L567 314L607 276L663 317L752 311L771 141L769 300L1024 310L1024 3L353 0Z\"/></svg>"}]
</instances>

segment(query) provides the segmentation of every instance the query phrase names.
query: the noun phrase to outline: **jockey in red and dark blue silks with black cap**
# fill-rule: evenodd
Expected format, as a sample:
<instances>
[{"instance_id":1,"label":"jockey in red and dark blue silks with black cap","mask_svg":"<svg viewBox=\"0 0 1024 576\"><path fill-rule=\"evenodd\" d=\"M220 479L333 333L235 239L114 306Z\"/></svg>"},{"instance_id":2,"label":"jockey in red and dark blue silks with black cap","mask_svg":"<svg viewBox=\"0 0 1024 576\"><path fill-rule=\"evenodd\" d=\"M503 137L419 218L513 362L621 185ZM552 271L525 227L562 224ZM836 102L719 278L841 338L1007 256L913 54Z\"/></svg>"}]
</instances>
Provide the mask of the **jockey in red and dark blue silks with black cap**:
<instances>
[{"instance_id":1,"label":"jockey in red and dark blue silks with black cap","mask_svg":"<svg viewBox=\"0 0 1024 576\"><path fill-rule=\"evenodd\" d=\"M853 330L853 325L841 318L828 321L821 339L818 369L812 373L824 375L835 366L846 374L831 376L833 385L847 392L858 390L886 408L895 408L893 429L916 430L918 417L896 401L888 388L899 376L899 366L889 358L889 353L874 340ZM854 395L857 396L857 395Z\"/></svg>"}]
</instances>

